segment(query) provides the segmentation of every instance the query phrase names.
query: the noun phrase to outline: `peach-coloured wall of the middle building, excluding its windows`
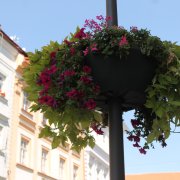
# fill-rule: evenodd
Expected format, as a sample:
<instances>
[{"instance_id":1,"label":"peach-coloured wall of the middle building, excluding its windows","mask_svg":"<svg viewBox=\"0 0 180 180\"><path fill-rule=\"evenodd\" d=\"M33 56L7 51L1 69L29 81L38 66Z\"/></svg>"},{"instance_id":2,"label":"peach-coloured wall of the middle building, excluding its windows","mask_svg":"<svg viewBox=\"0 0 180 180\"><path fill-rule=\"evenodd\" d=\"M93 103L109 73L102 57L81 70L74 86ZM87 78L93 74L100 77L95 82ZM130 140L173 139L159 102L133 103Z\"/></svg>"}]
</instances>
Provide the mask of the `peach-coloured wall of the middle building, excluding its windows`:
<instances>
[{"instance_id":1,"label":"peach-coloured wall of the middle building, excluding its windows","mask_svg":"<svg viewBox=\"0 0 180 180\"><path fill-rule=\"evenodd\" d=\"M72 150L64 150L61 147L58 147L56 150L51 151L51 141L46 139L39 139L38 134L42 127L42 114L37 113L28 113L22 110L22 98L23 98L23 82L19 81L21 79L22 68L27 63L26 61L22 61L22 56L17 56L17 76L14 84L14 94L13 94L13 110L12 110L12 123L11 123L11 138L10 138L10 163L9 163L9 180L19 180L20 174L23 172L27 173L27 178L33 180L40 179L44 174L41 173L40 170L40 156L41 156L41 148L46 147L49 149L49 163L52 158L59 158L59 154L62 154L66 157L68 162L66 168L67 179L71 180L73 164L79 167L79 179L84 179L84 152L82 151L80 155L76 155L72 152ZM30 140L30 163L28 165L22 165L19 163L19 147L21 136L25 136L25 138L29 138ZM57 156L55 158L55 156ZM58 162L58 161L56 161ZM51 166L49 167L50 171L53 171L53 168L57 169L59 164L54 164L51 162ZM17 174L17 172L21 172ZM17 177L18 176L18 177ZM46 174L44 176L48 179L55 179L51 176L51 174Z\"/></svg>"}]
</instances>

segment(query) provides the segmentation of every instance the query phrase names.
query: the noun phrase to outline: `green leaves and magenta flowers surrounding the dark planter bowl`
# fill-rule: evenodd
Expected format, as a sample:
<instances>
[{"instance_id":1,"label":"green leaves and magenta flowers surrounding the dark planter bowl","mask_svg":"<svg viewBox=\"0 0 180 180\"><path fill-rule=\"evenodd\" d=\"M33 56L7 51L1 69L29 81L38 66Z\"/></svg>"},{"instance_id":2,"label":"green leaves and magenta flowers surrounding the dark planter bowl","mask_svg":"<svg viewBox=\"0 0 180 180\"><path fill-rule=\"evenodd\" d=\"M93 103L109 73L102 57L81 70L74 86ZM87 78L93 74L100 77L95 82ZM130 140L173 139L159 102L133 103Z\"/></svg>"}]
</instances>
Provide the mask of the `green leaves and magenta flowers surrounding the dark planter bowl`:
<instances>
[{"instance_id":1,"label":"green leaves and magenta flowers surrounding the dark planter bowl","mask_svg":"<svg viewBox=\"0 0 180 180\"><path fill-rule=\"evenodd\" d=\"M158 67L146 89L146 103L135 109L138 125L129 134L144 138L145 149L153 141L164 146L170 124L180 126L180 47L161 41L146 29L109 27L104 19L98 26L93 21L87 21L86 26L90 31L77 27L61 44L51 41L28 54L30 64L23 73L25 91L34 102L31 110L40 110L49 122L40 137L50 138L53 148L67 141L76 151L87 145L94 147L91 132L107 126L103 118L107 112L100 112L96 105L101 92L91 69L85 66L86 55L127 57L136 49L157 61Z\"/></svg>"}]
</instances>

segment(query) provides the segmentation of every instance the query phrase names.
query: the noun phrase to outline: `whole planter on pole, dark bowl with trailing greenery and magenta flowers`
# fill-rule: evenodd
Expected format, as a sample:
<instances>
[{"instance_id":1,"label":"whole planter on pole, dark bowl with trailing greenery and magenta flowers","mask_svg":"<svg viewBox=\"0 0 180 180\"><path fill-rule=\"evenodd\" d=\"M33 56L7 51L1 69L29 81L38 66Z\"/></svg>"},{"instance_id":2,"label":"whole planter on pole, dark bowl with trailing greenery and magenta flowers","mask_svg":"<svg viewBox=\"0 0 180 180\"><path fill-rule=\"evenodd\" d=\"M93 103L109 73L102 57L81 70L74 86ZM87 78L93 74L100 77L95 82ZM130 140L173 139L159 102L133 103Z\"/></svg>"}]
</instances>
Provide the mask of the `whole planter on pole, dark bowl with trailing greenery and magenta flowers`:
<instances>
[{"instance_id":1,"label":"whole planter on pole, dark bowl with trailing greenery and magenta flowers","mask_svg":"<svg viewBox=\"0 0 180 180\"><path fill-rule=\"evenodd\" d=\"M61 44L50 42L29 53L25 90L34 102L32 111L41 110L49 119L40 137L51 137L53 147L68 140L76 150L93 147L91 132L103 134L107 112L102 104L113 96L127 110L135 109L128 132L133 146L141 153L154 140L164 146L170 123L180 125L179 46L146 29L109 27L109 17L97 20L86 20Z\"/></svg>"}]
</instances>

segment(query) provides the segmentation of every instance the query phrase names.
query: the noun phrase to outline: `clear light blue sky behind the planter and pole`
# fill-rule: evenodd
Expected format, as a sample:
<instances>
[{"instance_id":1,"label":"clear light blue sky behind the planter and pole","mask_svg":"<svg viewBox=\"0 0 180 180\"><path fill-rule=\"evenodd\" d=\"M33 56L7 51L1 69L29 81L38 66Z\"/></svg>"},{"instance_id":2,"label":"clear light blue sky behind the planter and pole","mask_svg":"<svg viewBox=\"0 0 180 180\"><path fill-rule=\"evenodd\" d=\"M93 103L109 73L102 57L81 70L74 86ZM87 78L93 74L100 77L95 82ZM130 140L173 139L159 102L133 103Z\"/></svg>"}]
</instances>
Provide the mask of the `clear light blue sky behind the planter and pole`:
<instances>
[{"instance_id":1,"label":"clear light blue sky behind the planter and pole","mask_svg":"<svg viewBox=\"0 0 180 180\"><path fill-rule=\"evenodd\" d=\"M180 44L180 0L117 0L118 25L147 28L162 40ZM106 15L105 0L1 0L0 24L26 51L41 49L52 41L61 42L86 19ZM131 127L132 112L124 121ZM172 134L168 146L141 155L124 140L127 174L180 172L180 133Z\"/></svg>"}]
</instances>

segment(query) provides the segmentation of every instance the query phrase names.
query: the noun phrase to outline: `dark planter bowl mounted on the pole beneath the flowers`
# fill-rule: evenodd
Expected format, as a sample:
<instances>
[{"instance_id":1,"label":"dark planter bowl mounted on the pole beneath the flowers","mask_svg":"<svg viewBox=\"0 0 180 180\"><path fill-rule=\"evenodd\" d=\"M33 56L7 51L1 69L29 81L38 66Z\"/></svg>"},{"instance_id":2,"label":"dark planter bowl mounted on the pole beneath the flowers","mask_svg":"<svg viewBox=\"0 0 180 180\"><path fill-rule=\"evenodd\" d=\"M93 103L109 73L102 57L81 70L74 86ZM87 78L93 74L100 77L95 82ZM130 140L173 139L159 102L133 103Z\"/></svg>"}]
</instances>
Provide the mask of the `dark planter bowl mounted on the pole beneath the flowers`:
<instances>
[{"instance_id":1,"label":"dark planter bowl mounted on the pole beneath the flowers","mask_svg":"<svg viewBox=\"0 0 180 180\"><path fill-rule=\"evenodd\" d=\"M95 54L88 56L86 63L92 68L93 79L100 85L104 101L119 98L127 108L145 103L145 89L156 70L154 59L144 56L140 50L131 50L126 58Z\"/></svg>"}]
</instances>

